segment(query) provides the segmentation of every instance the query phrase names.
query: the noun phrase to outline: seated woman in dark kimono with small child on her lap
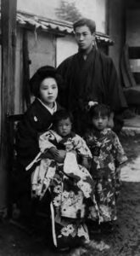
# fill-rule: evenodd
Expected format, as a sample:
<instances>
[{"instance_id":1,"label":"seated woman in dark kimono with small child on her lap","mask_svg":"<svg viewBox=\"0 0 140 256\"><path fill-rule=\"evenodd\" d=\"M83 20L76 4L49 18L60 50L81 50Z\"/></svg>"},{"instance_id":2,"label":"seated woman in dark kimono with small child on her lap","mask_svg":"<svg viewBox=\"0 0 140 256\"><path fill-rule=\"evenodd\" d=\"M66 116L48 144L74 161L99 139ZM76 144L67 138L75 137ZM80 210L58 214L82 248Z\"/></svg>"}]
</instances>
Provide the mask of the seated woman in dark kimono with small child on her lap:
<instances>
[{"instance_id":1,"label":"seated woman in dark kimono with small child on her lap","mask_svg":"<svg viewBox=\"0 0 140 256\"><path fill-rule=\"evenodd\" d=\"M54 67L41 67L30 81L31 93L35 96L30 108L25 112L19 123L16 150L17 150L17 197L20 198L22 214L31 214L31 172L25 172L25 166L35 158L39 152L38 136L52 125L53 113L60 109L56 102L58 84L61 79Z\"/></svg>"}]
</instances>

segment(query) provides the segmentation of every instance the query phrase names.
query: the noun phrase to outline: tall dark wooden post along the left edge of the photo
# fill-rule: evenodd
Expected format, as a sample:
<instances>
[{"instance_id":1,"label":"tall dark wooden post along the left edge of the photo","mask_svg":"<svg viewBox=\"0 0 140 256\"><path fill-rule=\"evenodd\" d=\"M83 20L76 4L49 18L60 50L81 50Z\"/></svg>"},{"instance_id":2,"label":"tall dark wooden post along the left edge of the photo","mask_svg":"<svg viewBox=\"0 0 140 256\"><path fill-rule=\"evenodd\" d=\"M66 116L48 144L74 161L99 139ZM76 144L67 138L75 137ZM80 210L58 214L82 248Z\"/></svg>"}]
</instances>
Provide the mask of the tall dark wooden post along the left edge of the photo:
<instances>
[{"instance_id":1,"label":"tall dark wooden post along the left edge of the photo","mask_svg":"<svg viewBox=\"0 0 140 256\"><path fill-rule=\"evenodd\" d=\"M17 0L1 0L2 11L2 85L0 113L0 217L8 205L7 113L14 113L14 71Z\"/></svg>"}]
</instances>

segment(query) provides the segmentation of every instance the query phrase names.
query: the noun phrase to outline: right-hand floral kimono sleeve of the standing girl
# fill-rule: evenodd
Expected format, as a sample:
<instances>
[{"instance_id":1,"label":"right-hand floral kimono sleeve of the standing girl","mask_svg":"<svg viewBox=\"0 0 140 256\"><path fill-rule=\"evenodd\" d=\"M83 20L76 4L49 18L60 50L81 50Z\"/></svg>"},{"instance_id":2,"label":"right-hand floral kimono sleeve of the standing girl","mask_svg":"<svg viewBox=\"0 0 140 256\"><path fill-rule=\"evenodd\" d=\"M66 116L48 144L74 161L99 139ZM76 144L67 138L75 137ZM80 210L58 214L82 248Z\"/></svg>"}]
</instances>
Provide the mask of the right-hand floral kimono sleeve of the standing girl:
<instances>
[{"instance_id":1,"label":"right-hand floral kimono sleeve of the standing girl","mask_svg":"<svg viewBox=\"0 0 140 256\"><path fill-rule=\"evenodd\" d=\"M117 135L113 131L112 131L112 135L113 135L113 151L114 151L113 153L115 157L115 164L116 164L116 167L118 167L121 164L126 162L127 157L124 149L122 148L119 137L117 137Z\"/></svg>"}]
</instances>

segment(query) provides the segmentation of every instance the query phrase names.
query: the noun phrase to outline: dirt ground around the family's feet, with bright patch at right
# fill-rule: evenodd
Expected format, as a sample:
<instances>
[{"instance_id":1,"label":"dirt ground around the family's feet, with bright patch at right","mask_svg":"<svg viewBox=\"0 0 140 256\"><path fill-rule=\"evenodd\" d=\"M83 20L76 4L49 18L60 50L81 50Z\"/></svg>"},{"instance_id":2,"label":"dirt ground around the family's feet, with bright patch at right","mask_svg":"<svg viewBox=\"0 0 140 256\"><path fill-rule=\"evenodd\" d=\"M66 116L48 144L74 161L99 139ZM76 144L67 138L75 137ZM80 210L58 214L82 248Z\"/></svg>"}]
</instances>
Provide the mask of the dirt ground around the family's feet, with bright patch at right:
<instances>
[{"instance_id":1,"label":"dirt ground around the family's feet, with bright patch at right","mask_svg":"<svg viewBox=\"0 0 140 256\"><path fill-rule=\"evenodd\" d=\"M140 177L140 135L123 136L120 140L129 162L121 174L118 220L111 234L99 235L101 240L110 245L110 249L102 253L88 250L79 256L140 256L140 179L137 178ZM0 256L68 255L54 252L50 247L49 236L42 237L28 231L20 229L9 220L1 222ZM98 236L95 238L98 239Z\"/></svg>"}]
</instances>

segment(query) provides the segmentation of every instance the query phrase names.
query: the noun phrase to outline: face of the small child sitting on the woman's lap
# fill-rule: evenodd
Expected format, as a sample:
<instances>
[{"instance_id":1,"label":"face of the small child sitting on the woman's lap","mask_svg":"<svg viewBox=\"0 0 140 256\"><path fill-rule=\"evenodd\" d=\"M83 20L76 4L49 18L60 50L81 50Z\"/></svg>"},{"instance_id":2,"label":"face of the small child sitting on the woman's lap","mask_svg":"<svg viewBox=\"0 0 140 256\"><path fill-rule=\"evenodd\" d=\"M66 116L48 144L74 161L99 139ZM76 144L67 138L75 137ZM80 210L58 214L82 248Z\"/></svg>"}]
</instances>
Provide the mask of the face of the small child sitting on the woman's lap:
<instances>
[{"instance_id":1,"label":"face of the small child sitting on the woman's lap","mask_svg":"<svg viewBox=\"0 0 140 256\"><path fill-rule=\"evenodd\" d=\"M58 123L57 131L60 136L65 137L70 134L71 127L72 127L72 124L71 124L70 118L62 119Z\"/></svg>"}]
</instances>

